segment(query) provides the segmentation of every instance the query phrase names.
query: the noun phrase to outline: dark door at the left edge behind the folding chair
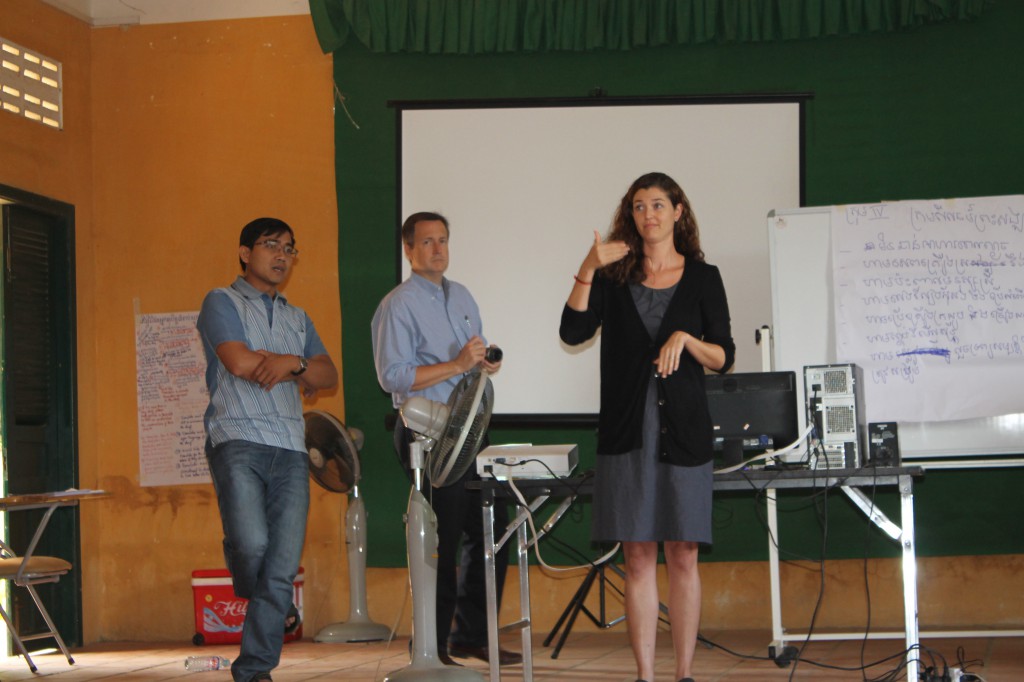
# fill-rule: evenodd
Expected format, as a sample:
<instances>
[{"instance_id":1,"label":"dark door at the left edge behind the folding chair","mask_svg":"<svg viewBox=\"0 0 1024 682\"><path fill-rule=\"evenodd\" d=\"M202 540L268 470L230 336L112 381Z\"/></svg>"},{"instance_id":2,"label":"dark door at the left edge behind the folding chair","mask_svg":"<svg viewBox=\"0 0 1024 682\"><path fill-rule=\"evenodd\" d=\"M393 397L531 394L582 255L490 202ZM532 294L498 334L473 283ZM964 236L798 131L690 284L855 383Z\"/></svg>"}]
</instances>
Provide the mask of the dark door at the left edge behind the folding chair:
<instances>
[{"instance_id":1,"label":"dark door at the left edge behind the folding chair","mask_svg":"<svg viewBox=\"0 0 1024 682\"><path fill-rule=\"evenodd\" d=\"M8 494L76 487L74 211L0 186L3 206L3 443ZM6 538L25 551L41 512L7 514ZM57 510L38 553L75 566L55 585L38 588L69 645L81 643L81 565L77 508ZM19 632L45 630L31 596L11 590ZM52 640L29 642L35 648ZM29 647L30 650L33 648Z\"/></svg>"}]
</instances>

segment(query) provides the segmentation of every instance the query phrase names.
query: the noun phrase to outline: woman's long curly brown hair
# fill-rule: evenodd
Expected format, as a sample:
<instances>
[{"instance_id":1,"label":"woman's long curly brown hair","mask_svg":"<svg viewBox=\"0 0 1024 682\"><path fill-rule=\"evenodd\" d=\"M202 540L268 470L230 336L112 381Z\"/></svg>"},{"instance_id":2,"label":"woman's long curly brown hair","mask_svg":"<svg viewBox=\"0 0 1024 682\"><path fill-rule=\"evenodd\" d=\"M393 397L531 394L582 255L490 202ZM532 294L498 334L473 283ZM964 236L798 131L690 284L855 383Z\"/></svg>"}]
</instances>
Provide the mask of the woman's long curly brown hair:
<instances>
[{"instance_id":1,"label":"woman's long curly brown hair","mask_svg":"<svg viewBox=\"0 0 1024 682\"><path fill-rule=\"evenodd\" d=\"M676 251L683 254L687 260L702 263L703 251L700 250L700 231L697 229L697 219L690 208L690 200L686 198L683 188L665 173L647 173L641 175L630 185L626 196L618 203L615 217L611 223L611 233L608 241L625 242L630 252L622 260L605 266L604 272L617 284L635 284L643 282L643 240L633 220L633 198L641 189L657 187L669 197L672 206L683 205L683 213L679 216L673 229L673 243Z\"/></svg>"}]
</instances>

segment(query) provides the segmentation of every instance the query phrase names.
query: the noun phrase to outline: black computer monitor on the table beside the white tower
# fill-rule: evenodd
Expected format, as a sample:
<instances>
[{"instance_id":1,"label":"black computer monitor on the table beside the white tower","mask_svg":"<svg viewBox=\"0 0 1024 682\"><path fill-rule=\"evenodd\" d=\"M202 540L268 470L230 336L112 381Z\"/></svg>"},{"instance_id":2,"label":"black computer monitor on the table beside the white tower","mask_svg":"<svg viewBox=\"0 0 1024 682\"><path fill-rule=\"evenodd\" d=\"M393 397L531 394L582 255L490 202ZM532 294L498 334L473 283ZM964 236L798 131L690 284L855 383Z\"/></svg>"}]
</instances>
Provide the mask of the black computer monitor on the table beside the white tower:
<instances>
[{"instance_id":1,"label":"black computer monitor on the table beside the white tower","mask_svg":"<svg viewBox=\"0 0 1024 682\"><path fill-rule=\"evenodd\" d=\"M751 372L705 377L715 451L726 464L797 439L795 372Z\"/></svg>"}]
</instances>

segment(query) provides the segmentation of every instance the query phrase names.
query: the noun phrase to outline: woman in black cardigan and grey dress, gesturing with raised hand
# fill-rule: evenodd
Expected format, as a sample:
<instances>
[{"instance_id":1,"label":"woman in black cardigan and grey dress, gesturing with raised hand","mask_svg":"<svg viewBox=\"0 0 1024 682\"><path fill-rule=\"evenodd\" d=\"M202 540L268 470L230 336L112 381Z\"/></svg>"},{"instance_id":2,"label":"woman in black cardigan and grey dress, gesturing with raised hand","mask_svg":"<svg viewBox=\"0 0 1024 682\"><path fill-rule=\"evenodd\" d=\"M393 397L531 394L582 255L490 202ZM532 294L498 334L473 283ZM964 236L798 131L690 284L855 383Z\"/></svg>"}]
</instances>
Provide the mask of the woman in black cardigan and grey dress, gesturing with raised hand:
<instances>
[{"instance_id":1,"label":"woman in black cardigan and grey dress, gesturing with raised hand","mask_svg":"<svg viewBox=\"0 0 1024 682\"><path fill-rule=\"evenodd\" d=\"M580 266L563 341L601 329L601 413L592 538L622 542L626 612L640 680L654 679L657 545L665 546L676 677L690 677L700 621L697 548L711 543L712 423L705 370L726 372L735 345L718 268L696 219L664 173L630 187L611 235Z\"/></svg>"}]
</instances>

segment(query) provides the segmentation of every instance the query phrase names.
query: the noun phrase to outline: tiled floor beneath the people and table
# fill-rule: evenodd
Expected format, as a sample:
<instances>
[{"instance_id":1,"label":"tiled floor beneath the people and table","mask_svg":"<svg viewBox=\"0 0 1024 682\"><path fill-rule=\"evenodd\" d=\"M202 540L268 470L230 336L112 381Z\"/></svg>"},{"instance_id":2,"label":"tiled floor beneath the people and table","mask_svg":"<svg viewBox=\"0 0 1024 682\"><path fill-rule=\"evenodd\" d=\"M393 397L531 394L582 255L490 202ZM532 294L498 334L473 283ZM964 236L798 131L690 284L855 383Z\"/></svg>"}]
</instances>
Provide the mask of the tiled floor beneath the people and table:
<instances>
[{"instance_id":1,"label":"tiled floor beneath the people and table","mask_svg":"<svg viewBox=\"0 0 1024 682\"><path fill-rule=\"evenodd\" d=\"M705 637L719 647L697 647L694 678L697 682L756 682L760 680L863 680L883 678L894 671L900 662L901 643L896 640L871 640L861 655L860 641L814 642L804 651L794 674L793 667L779 668L768 660L767 632L705 632ZM573 632L558 658L551 657L551 649L544 648L541 640L535 641L534 680L553 682L568 680L579 682L633 682L634 665L629 642L623 626L605 632ZM317 644L309 639L285 645L281 667L273 671L276 682L300 680L346 680L350 682L378 682L388 674L409 665L406 639L390 646L374 644ZM505 640L507 648L516 648L517 638ZM980 676L984 682L1015 682L1024 680L1024 638L969 638L962 640L937 639L927 641L922 653L922 668L942 666L943 656L951 667L956 665L957 647L964 649L967 670ZM187 673L183 662L196 653L220 654L231 657L237 646L217 645L199 648L190 643L138 644L103 643L73 651L75 665L69 666L59 653L34 656L39 673L33 675L22 658L0 659L0 680L15 682L40 677L56 678L58 682L78 680L169 680L193 677L197 682L226 682L226 671ZM731 651L731 652L730 652ZM749 656L749 657L744 657ZM859 670L861 660L881 665ZM818 664L818 665L812 665ZM477 671L482 680L488 679L488 670L479 660L467 662L468 668ZM825 668L821 666L833 666ZM672 644L668 633L659 635L657 646L657 682L672 679ZM792 675L792 678L791 678ZM865 677L866 676L866 677ZM501 679L522 682L522 668L505 668ZM900 672L892 679L905 679ZM407 678L408 679L408 678ZM420 680L445 680L444 670L438 675L417 677ZM940 679L940 678L937 678Z\"/></svg>"}]
</instances>

